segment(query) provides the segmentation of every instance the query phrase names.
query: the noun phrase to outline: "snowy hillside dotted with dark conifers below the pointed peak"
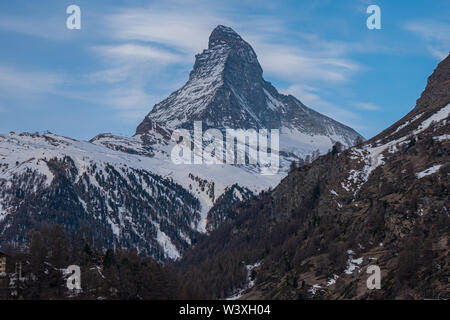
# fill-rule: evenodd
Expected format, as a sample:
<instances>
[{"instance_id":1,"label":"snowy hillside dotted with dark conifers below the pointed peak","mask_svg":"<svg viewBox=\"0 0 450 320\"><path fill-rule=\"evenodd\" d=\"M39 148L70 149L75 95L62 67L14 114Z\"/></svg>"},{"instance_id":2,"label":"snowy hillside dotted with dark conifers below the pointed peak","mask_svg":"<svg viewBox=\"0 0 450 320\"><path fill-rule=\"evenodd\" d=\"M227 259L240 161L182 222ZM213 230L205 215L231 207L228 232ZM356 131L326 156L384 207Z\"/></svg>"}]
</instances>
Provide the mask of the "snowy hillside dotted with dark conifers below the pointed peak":
<instances>
[{"instance_id":1,"label":"snowy hillside dotted with dark conifers below the pointed peak","mask_svg":"<svg viewBox=\"0 0 450 320\"><path fill-rule=\"evenodd\" d=\"M237 166L175 165L168 154L149 154L139 137L91 143L54 134L0 135L0 233L20 242L25 234L17 228L37 221L85 223L98 227L110 246L177 258L196 232L206 231L207 213L227 186L237 182L259 192L280 179ZM51 203L67 216L57 216Z\"/></svg>"}]
</instances>

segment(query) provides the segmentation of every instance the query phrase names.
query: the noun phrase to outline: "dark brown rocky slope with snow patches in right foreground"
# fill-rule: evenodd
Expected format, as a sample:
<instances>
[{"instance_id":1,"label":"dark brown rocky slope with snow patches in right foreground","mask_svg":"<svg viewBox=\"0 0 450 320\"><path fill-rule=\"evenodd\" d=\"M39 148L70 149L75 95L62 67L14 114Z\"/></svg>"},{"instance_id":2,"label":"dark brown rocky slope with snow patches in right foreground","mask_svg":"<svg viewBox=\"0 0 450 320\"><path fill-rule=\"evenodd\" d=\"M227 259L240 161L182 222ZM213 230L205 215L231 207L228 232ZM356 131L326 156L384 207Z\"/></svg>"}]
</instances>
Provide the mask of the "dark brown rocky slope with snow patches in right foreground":
<instances>
[{"instance_id":1,"label":"dark brown rocky slope with snow patches in right foreground","mask_svg":"<svg viewBox=\"0 0 450 320\"><path fill-rule=\"evenodd\" d=\"M447 57L408 115L238 203L177 267L215 298L448 299L449 113Z\"/></svg>"}]
</instances>

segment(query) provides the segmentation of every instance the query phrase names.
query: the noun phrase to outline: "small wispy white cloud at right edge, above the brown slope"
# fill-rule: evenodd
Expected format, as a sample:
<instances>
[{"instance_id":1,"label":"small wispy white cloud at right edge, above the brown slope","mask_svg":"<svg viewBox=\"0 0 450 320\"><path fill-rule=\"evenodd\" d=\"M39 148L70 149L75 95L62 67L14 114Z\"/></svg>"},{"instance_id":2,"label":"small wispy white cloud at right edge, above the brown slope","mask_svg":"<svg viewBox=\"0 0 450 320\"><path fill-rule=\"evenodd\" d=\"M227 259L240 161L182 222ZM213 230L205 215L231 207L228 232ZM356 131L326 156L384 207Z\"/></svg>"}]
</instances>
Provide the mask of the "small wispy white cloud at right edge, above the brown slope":
<instances>
[{"instance_id":1,"label":"small wispy white cloud at right edge, above the brown slope","mask_svg":"<svg viewBox=\"0 0 450 320\"><path fill-rule=\"evenodd\" d=\"M442 60L448 56L450 24L434 21L414 21L407 23L404 27L424 39L428 52L436 59Z\"/></svg>"}]
</instances>

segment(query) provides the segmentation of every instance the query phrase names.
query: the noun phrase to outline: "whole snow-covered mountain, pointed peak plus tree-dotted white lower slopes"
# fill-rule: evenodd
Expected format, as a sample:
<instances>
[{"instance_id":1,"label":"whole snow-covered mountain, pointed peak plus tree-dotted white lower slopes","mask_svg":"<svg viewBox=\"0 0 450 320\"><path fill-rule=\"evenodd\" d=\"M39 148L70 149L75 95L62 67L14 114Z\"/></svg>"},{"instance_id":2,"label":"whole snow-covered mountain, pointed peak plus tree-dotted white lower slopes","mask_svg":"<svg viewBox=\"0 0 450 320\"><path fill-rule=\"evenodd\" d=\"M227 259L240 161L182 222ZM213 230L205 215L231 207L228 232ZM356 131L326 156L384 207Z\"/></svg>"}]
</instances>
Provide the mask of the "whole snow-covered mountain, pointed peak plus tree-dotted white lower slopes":
<instances>
[{"instance_id":1,"label":"whole snow-covered mountain, pointed peak plus tree-dotted white lower slopes","mask_svg":"<svg viewBox=\"0 0 450 320\"><path fill-rule=\"evenodd\" d=\"M177 259L234 204L276 186L291 160L360 137L279 94L262 73L251 46L219 26L186 85L157 104L133 137L0 135L0 246L21 244L49 222L72 233L93 228L105 247ZM282 169L264 176L245 165L173 163L171 135L194 121L205 129L280 129Z\"/></svg>"}]
</instances>

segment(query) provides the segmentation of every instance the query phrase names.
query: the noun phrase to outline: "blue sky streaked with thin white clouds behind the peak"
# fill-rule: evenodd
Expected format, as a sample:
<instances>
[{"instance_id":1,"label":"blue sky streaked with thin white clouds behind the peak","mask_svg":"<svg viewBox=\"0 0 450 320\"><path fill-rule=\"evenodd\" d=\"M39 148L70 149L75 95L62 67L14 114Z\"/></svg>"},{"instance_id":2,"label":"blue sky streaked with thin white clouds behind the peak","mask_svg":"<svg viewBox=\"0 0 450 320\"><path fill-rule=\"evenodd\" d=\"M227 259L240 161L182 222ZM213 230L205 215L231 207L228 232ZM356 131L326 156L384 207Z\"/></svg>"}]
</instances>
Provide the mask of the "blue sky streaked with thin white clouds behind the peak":
<instances>
[{"instance_id":1,"label":"blue sky streaked with thin white clouds behind the peak","mask_svg":"<svg viewBox=\"0 0 450 320\"><path fill-rule=\"evenodd\" d=\"M66 28L72 4L81 30ZM366 27L370 4L381 30ZM449 13L447 0L2 1L0 133L132 135L224 24L281 92L369 138L413 108L448 54Z\"/></svg>"}]
</instances>

